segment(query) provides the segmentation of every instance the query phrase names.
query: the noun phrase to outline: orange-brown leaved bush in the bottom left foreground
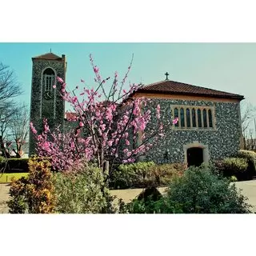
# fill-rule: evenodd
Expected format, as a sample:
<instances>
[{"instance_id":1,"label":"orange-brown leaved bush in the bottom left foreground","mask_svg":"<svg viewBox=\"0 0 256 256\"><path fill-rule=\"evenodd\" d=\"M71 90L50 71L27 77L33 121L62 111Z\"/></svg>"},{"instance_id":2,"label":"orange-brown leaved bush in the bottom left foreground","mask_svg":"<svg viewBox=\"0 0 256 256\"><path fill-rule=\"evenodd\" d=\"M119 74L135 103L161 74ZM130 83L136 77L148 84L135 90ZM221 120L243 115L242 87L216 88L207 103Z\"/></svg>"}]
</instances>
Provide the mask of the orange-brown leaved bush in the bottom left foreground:
<instances>
[{"instance_id":1,"label":"orange-brown leaved bush in the bottom left foreground","mask_svg":"<svg viewBox=\"0 0 256 256\"><path fill-rule=\"evenodd\" d=\"M11 182L10 200L7 202L11 214L50 214L54 212L55 198L50 162L40 158L29 161L28 178Z\"/></svg>"}]
</instances>

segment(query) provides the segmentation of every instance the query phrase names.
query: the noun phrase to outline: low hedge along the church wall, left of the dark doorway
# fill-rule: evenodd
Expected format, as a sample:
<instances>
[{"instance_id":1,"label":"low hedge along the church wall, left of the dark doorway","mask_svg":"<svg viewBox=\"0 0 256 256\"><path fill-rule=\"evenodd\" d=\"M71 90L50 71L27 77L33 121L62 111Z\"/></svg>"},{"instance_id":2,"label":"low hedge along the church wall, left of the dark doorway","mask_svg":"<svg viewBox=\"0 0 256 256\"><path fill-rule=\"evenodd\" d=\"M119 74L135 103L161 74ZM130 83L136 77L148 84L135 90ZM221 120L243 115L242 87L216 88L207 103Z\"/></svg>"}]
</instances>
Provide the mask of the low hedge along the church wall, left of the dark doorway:
<instances>
[{"instance_id":1,"label":"low hedge along the church wall, left of the dark doorway","mask_svg":"<svg viewBox=\"0 0 256 256\"><path fill-rule=\"evenodd\" d=\"M182 175L186 170L184 164L156 165L154 162L137 162L122 164L110 177L110 188L145 188L149 186L166 186L170 180Z\"/></svg>"}]
</instances>

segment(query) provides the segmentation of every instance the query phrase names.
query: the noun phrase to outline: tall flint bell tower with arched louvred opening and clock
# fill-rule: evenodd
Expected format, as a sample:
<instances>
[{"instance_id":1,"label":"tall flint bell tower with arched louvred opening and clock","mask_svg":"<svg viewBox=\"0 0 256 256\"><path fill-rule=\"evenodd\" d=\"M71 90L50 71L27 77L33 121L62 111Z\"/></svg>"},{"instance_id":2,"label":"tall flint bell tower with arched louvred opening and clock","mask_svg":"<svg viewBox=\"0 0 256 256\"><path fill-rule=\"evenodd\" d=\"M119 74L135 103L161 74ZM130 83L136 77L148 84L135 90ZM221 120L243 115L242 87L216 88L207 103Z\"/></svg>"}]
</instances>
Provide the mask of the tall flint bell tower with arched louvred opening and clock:
<instances>
[{"instance_id":1,"label":"tall flint bell tower with arched louvred opening and clock","mask_svg":"<svg viewBox=\"0 0 256 256\"><path fill-rule=\"evenodd\" d=\"M66 81L66 56L53 53L32 58L32 86L30 122L42 133L42 121L48 120L50 129L64 126L65 101L60 94L61 84L57 76ZM56 86L54 89L53 86ZM30 131L30 155L35 153L34 135Z\"/></svg>"}]
</instances>

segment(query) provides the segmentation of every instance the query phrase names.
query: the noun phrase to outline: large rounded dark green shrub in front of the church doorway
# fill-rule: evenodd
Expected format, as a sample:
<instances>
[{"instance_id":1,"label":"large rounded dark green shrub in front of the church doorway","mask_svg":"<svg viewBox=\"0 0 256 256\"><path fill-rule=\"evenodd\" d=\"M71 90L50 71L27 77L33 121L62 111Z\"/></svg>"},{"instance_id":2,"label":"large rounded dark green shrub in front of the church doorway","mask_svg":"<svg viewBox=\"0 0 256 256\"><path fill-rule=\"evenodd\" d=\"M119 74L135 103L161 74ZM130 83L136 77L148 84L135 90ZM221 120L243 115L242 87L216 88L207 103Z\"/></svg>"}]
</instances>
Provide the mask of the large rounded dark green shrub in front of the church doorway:
<instances>
[{"instance_id":1,"label":"large rounded dark green shrub in front of the church doorway","mask_svg":"<svg viewBox=\"0 0 256 256\"><path fill-rule=\"evenodd\" d=\"M191 166L182 177L170 182L166 197L182 206L186 214L250 213L250 205L241 191L209 167Z\"/></svg>"}]
</instances>

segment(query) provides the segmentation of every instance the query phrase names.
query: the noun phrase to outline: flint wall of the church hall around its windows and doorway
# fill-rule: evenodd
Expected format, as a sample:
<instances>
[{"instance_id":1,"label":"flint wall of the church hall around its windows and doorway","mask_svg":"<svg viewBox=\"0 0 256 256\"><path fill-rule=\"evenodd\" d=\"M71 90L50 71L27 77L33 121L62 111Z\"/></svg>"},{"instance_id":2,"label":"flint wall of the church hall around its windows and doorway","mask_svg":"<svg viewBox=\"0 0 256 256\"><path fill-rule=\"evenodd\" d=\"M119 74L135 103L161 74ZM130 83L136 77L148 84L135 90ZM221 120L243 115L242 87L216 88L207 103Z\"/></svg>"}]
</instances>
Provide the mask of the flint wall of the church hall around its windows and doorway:
<instances>
[{"instance_id":1,"label":"flint wall of the church hall around its windows and doorway","mask_svg":"<svg viewBox=\"0 0 256 256\"><path fill-rule=\"evenodd\" d=\"M150 104L153 119L155 117L155 108L158 104L161 106L161 119L166 125L172 120L173 113L171 109L174 105L213 106L215 129L187 128L182 130L180 128L177 130L169 126L170 129L166 130L166 136L162 138L158 146L155 146L147 153L144 158L145 161L158 163L186 162L186 150L184 148L186 148L186 145L193 144L193 142L207 147L208 160L237 154L241 138L239 103L153 99Z\"/></svg>"}]
</instances>

